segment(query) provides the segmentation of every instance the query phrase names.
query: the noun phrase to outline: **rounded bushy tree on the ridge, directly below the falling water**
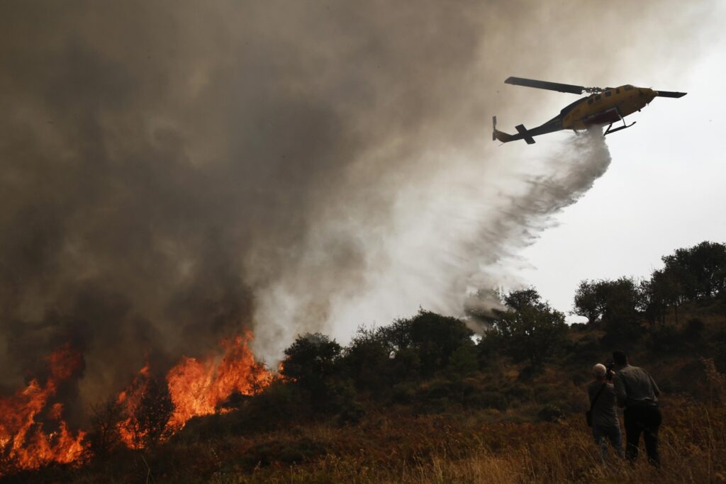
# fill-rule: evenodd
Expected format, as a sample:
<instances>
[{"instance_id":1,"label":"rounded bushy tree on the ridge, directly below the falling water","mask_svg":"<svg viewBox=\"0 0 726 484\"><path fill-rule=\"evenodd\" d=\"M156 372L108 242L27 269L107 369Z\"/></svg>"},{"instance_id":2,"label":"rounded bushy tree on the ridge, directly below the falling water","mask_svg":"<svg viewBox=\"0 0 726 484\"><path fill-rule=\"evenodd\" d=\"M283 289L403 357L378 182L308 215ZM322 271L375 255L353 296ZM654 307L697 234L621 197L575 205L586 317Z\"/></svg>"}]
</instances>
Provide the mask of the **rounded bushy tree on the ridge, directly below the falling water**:
<instances>
[{"instance_id":1,"label":"rounded bushy tree on the ridge, directly below the falling water","mask_svg":"<svg viewBox=\"0 0 726 484\"><path fill-rule=\"evenodd\" d=\"M504 298L509 311L497 311L492 331L515 361L529 361L533 369L564 342L565 315L552 309L534 289L510 292Z\"/></svg>"}]
</instances>

